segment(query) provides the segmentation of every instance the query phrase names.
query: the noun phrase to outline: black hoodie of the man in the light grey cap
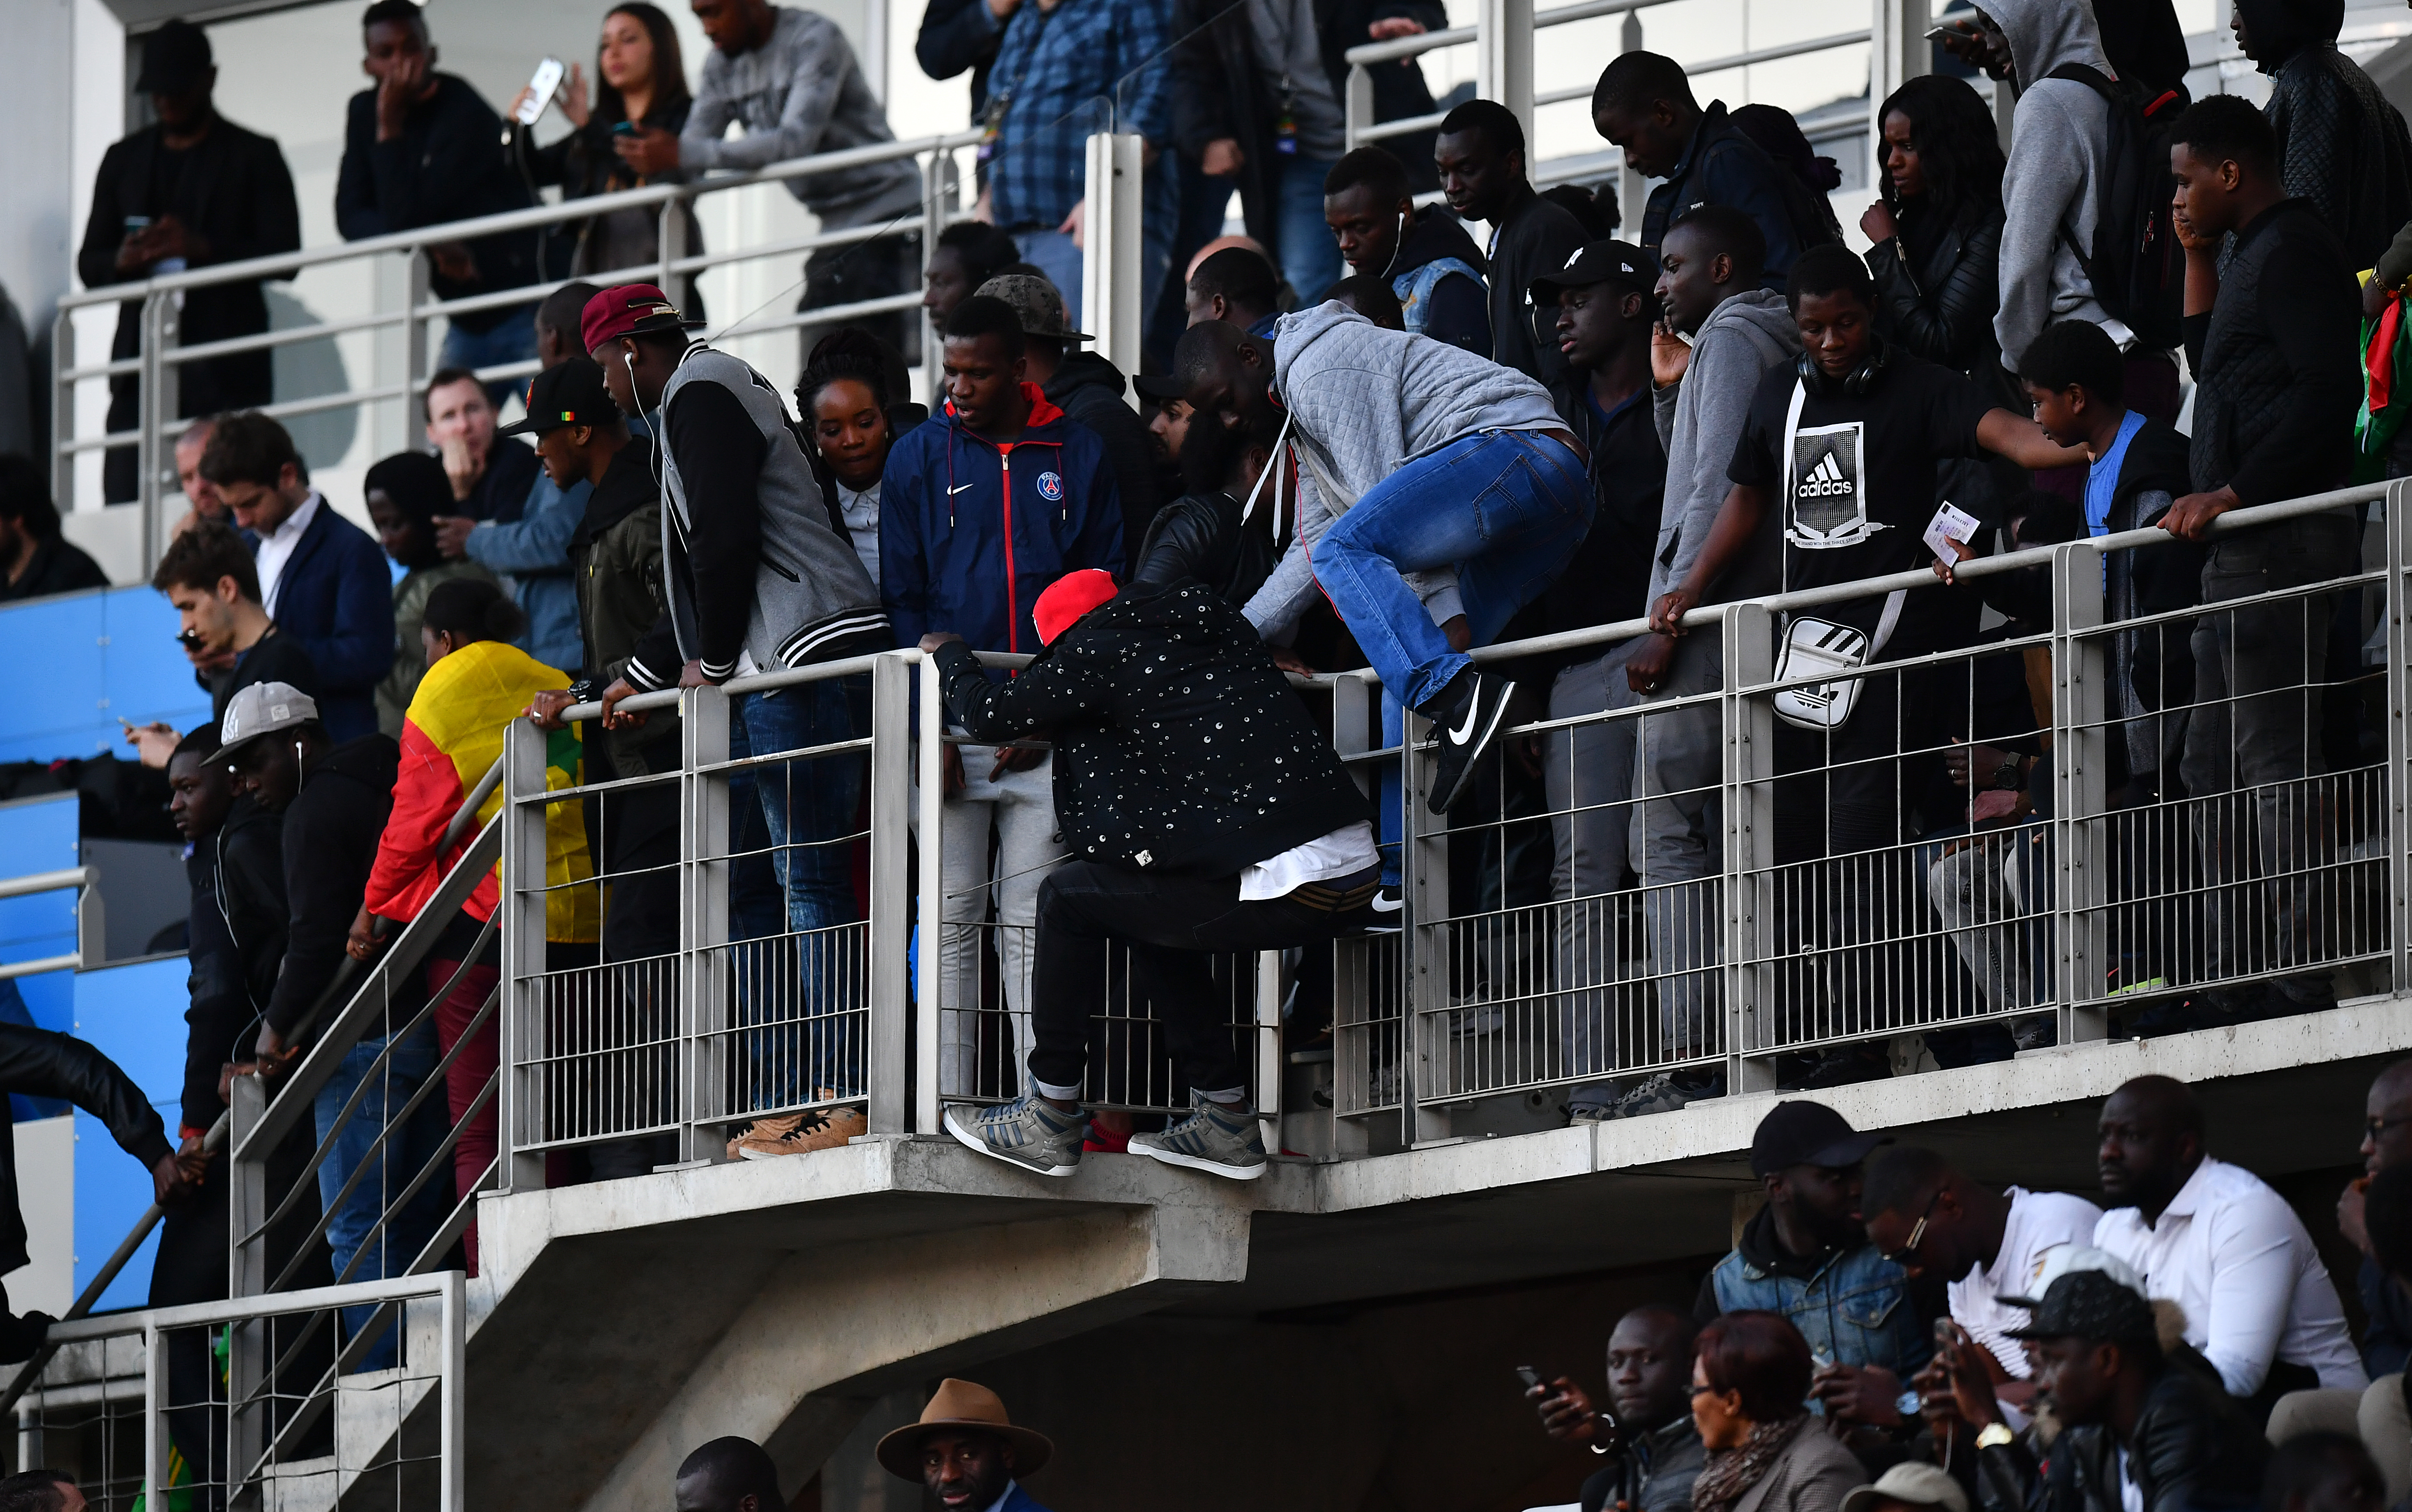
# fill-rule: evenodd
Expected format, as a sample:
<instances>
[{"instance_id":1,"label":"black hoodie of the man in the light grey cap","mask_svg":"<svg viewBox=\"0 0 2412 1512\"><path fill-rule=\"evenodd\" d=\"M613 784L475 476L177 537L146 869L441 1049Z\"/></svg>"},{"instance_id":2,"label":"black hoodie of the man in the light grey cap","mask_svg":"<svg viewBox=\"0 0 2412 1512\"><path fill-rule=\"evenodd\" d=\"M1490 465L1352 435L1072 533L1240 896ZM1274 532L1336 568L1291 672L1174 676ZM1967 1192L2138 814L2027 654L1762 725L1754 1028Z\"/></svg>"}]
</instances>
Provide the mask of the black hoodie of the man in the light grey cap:
<instances>
[{"instance_id":1,"label":"black hoodie of the man in the light grey cap","mask_svg":"<svg viewBox=\"0 0 2412 1512\"><path fill-rule=\"evenodd\" d=\"M343 967L400 764L391 736L345 740L302 774L302 791L285 805L285 969L268 998L268 1022L285 1037Z\"/></svg>"}]
</instances>

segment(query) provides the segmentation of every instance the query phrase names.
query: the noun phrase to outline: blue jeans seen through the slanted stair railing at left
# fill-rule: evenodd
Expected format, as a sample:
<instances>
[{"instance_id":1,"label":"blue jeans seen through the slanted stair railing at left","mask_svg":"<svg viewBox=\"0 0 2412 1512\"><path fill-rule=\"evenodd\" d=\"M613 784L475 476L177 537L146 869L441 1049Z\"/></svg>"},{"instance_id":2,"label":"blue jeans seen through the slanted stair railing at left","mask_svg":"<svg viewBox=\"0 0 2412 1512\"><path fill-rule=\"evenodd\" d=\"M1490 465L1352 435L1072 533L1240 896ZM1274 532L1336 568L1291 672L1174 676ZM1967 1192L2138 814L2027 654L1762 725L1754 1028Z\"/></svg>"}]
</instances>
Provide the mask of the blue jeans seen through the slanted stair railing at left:
<instances>
[{"instance_id":1,"label":"blue jeans seen through the slanted stair railing at left","mask_svg":"<svg viewBox=\"0 0 2412 1512\"><path fill-rule=\"evenodd\" d=\"M335 1131L335 1117L343 1114L343 1104L352 1100L352 1092L369 1080L369 1071L376 1066L376 1056L384 1054L386 1039L362 1039L345 1056L343 1066L335 1068L335 1078L318 1090L316 1102L311 1102L314 1124L318 1131L318 1143ZM335 1254L335 1276L352 1268L352 1259L359 1256L359 1266L352 1268L350 1280L384 1280L386 1276L400 1276L410 1261L420 1256L420 1249L434 1237L437 1225L444 1223L444 1213L451 1208L451 1182L449 1170L439 1170L427 1186L420 1189L415 1199L386 1223L381 1232L371 1240L369 1232L376 1220L386 1213L386 1203L400 1196L420 1170L434 1160L437 1148L444 1143L449 1129L444 1097L432 1095L410 1114L410 1124L393 1131L384 1150L371 1153L369 1145L386 1129L386 1119L398 1114L405 1102L427 1083L437 1068L437 1037L420 1030L405 1039L393 1056L386 1061L384 1073L369 1095L362 1097L359 1112L352 1121L343 1126L335 1145L328 1150L326 1160L318 1165L318 1208L333 1213L326 1225L326 1247ZM350 1196L343 1196L343 1184L352 1179L352 1172L367 1165L359 1184L352 1186ZM340 1203L338 1203L340 1199ZM362 1247L369 1249L362 1256ZM369 1324L374 1307L345 1307L343 1331L345 1338L357 1334ZM355 1365L355 1370L386 1370L396 1358L398 1329L386 1329L384 1338L369 1346L369 1353Z\"/></svg>"}]
</instances>

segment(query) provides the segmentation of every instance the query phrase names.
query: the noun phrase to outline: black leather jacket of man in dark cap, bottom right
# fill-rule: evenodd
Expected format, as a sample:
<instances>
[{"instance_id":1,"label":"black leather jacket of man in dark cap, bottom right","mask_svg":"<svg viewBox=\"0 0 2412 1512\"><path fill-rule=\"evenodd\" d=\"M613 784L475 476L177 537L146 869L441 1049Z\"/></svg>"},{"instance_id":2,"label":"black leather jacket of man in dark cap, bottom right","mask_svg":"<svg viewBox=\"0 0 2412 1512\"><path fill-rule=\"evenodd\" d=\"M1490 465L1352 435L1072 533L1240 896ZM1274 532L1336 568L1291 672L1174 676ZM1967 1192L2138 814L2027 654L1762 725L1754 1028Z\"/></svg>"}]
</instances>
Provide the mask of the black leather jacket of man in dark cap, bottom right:
<instances>
[{"instance_id":1,"label":"black leather jacket of man in dark cap, bottom right","mask_svg":"<svg viewBox=\"0 0 2412 1512\"><path fill-rule=\"evenodd\" d=\"M2255 1507L2270 1444L2219 1389L2193 1350L2161 1367L2127 1442L2127 1476L2144 1512ZM2069 1428L2038 1466L2026 1442L1978 1457L1985 1512L2120 1512L2118 1435L2106 1425Z\"/></svg>"}]
</instances>

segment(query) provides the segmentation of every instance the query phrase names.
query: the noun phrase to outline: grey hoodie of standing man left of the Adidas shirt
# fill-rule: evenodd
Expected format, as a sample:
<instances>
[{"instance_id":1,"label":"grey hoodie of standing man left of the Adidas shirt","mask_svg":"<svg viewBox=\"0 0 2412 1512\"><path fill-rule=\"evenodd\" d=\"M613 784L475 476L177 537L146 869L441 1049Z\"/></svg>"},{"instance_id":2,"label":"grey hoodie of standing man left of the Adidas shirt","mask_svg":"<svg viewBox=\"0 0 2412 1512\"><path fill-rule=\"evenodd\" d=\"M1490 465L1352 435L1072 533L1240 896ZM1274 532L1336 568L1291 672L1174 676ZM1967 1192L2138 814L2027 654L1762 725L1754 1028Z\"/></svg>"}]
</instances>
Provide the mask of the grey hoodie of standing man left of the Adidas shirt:
<instances>
[{"instance_id":1,"label":"grey hoodie of standing man left of the Adidas shirt","mask_svg":"<svg viewBox=\"0 0 2412 1512\"><path fill-rule=\"evenodd\" d=\"M1650 395L1659 444L1667 449L1667 502L1650 559L1650 603L1691 576L1691 564L1732 492L1725 470L1741 441L1741 422L1770 367L1799 357L1802 338L1782 294L1734 294L1700 321L1691 338L1684 381Z\"/></svg>"}]
</instances>

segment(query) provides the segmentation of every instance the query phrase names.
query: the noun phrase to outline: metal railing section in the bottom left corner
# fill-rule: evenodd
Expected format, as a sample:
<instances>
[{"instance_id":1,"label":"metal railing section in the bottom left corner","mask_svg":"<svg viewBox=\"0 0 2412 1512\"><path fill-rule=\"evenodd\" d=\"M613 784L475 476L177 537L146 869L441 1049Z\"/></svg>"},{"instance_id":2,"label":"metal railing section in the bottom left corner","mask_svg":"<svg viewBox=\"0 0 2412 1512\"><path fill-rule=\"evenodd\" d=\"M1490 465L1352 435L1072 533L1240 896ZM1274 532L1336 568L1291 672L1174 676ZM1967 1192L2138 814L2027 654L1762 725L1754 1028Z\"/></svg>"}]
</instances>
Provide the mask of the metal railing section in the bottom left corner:
<instances>
[{"instance_id":1,"label":"metal railing section in the bottom left corner","mask_svg":"<svg viewBox=\"0 0 2412 1512\"><path fill-rule=\"evenodd\" d=\"M393 1317L393 1362L338 1377L304 1341L359 1312ZM466 1338L458 1271L63 1321L14 1403L17 1464L72 1476L96 1512L458 1512ZM270 1370L232 1370L241 1350Z\"/></svg>"}]
</instances>

